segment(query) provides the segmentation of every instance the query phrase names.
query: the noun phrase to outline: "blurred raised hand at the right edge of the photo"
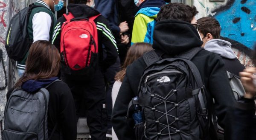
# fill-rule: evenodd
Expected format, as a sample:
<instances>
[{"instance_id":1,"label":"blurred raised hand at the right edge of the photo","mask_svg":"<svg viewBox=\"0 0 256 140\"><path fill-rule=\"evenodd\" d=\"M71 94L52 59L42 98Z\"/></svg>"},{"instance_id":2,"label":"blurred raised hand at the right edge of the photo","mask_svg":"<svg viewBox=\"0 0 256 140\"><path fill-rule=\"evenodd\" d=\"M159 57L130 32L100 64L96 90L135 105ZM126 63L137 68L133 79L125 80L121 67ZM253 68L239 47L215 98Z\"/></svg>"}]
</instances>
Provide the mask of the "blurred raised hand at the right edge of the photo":
<instances>
[{"instance_id":1,"label":"blurred raised hand at the right edge of the photo","mask_svg":"<svg viewBox=\"0 0 256 140\"><path fill-rule=\"evenodd\" d=\"M240 80L246 92L244 98L253 98L256 95L256 86L253 84L253 80L256 76L253 75L253 73L256 73L256 67L249 67L239 73L239 76L241 77Z\"/></svg>"}]
</instances>

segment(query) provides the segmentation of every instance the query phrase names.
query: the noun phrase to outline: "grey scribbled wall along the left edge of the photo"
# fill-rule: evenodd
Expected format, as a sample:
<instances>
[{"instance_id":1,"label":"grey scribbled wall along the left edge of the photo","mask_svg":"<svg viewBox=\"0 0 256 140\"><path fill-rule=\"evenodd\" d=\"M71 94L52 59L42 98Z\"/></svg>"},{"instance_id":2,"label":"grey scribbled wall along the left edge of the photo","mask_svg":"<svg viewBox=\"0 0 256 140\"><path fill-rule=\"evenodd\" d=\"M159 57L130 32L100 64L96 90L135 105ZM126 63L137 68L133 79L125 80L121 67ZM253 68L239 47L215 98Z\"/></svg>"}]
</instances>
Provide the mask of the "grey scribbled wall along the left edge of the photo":
<instances>
[{"instance_id":1,"label":"grey scribbled wall along the left edge of the photo","mask_svg":"<svg viewBox=\"0 0 256 140\"><path fill-rule=\"evenodd\" d=\"M0 0L0 129L3 130L3 115L6 105L6 93L13 87L18 79L16 62L9 61L6 49L5 38L9 20L14 14L30 3L29 0ZM0 134L0 140L2 133Z\"/></svg>"}]
</instances>

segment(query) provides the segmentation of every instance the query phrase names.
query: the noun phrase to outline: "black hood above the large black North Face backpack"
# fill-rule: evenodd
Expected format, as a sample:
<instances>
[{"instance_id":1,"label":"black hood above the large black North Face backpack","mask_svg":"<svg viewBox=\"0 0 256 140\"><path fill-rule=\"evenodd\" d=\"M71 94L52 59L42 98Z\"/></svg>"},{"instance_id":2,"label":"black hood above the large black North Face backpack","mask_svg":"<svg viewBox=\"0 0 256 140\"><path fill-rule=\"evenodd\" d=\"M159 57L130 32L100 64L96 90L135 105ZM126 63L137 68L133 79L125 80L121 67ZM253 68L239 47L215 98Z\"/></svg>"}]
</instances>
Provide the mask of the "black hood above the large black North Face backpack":
<instances>
[{"instance_id":1,"label":"black hood above the large black North Face backpack","mask_svg":"<svg viewBox=\"0 0 256 140\"><path fill-rule=\"evenodd\" d=\"M177 55L194 47L201 47L196 28L189 22L180 20L163 20L157 22L153 34L153 48L169 55Z\"/></svg>"}]
</instances>

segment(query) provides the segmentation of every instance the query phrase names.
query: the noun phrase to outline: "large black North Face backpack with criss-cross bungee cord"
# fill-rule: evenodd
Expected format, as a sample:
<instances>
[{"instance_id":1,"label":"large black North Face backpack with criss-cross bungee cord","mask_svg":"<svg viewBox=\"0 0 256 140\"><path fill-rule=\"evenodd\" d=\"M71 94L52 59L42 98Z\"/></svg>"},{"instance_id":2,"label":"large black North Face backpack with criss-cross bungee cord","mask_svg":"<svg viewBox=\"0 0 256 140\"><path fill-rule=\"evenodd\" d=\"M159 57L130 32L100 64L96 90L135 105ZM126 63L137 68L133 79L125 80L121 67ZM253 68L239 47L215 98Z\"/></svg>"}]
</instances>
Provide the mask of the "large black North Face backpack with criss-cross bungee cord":
<instances>
[{"instance_id":1,"label":"large black North Face backpack with criss-cross bungee cord","mask_svg":"<svg viewBox=\"0 0 256 140\"><path fill-rule=\"evenodd\" d=\"M144 122L135 124L137 140L209 140L205 88L190 61L200 50L167 59L154 50L143 54L148 67L138 87Z\"/></svg>"}]
</instances>

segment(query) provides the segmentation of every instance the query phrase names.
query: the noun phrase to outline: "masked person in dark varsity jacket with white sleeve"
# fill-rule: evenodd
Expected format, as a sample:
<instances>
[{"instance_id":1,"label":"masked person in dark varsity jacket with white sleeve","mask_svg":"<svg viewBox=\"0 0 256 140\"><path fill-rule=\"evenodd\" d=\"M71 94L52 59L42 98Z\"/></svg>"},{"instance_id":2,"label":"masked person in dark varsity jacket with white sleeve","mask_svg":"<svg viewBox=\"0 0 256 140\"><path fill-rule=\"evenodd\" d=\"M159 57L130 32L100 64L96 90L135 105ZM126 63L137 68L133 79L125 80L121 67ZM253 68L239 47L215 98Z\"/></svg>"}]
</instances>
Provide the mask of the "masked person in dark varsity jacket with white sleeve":
<instances>
[{"instance_id":1,"label":"masked person in dark varsity jacket with white sleeve","mask_svg":"<svg viewBox=\"0 0 256 140\"><path fill-rule=\"evenodd\" d=\"M29 39L32 42L38 40L51 41L53 33L53 26L56 23L56 18L52 11L59 11L63 7L63 0L37 0L35 5L41 6L32 9L29 15L29 22L27 26ZM18 73L21 77L26 68L25 62L28 53L22 61L18 62Z\"/></svg>"}]
</instances>

